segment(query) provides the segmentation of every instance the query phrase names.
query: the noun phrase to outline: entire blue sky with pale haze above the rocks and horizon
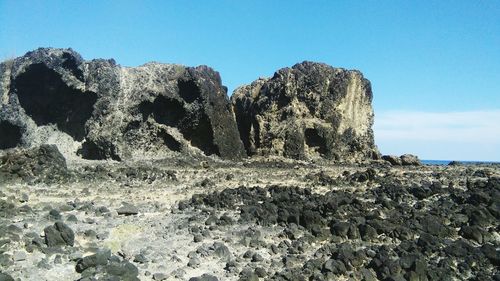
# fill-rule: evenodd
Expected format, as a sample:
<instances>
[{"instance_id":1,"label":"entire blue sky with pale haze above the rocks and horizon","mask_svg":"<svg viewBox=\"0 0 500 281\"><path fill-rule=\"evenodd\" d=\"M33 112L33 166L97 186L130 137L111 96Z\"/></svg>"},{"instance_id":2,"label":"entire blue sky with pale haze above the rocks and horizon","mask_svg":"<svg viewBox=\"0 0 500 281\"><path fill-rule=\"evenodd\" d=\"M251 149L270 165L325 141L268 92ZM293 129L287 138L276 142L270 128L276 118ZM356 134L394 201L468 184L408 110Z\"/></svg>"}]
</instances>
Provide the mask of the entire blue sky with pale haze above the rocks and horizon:
<instances>
[{"instance_id":1,"label":"entire blue sky with pale haze above the rocks and horizon","mask_svg":"<svg viewBox=\"0 0 500 281\"><path fill-rule=\"evenodd\" d=\"M383 154L500 161L500 1L0 0L0 60L206 64L229 94L304 60L372 82Z\"/></svg>"}]
</instances>

